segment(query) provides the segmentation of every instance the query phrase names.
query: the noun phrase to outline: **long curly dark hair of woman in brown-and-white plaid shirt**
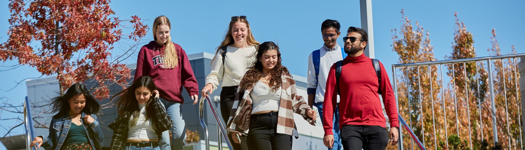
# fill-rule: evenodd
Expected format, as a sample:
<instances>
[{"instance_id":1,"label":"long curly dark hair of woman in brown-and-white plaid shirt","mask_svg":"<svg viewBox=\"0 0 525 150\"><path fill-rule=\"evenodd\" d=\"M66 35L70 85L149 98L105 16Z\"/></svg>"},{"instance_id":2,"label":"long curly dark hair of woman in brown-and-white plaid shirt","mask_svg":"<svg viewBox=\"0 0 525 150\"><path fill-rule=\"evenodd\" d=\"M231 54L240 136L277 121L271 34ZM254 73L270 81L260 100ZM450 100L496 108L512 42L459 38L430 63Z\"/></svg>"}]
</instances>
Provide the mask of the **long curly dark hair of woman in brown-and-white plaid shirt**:
<instances>
[{"instance_id":1,"label":"long curly dark hair of woman in brown-and-white plaid shirt","mask_svg":"<svg viewBox=\"0 0 525 150\"><path fill-rule=\"evenodd\" d=\"M282 73L290 74L288 69L284 66L282 66L281 63L281 52L279 51L279 46L277 46L272 41L263 42L261 45L259 45L259 49L257 49L257 53L254 53L253 57L256 59L252 62L251 68L244 74L243 79L240 81L239 88L240 89L249 89L254 87L255 83L259 81L262 77L262 54L264 54L266 51L269 50L276 50L277 51L277 64L275 65L274 69L271 70L270 74L270 80L269 80L269 87L271 88L271 92L276 92L281 87L281 78Z\"/></svg>"}]
</instances>

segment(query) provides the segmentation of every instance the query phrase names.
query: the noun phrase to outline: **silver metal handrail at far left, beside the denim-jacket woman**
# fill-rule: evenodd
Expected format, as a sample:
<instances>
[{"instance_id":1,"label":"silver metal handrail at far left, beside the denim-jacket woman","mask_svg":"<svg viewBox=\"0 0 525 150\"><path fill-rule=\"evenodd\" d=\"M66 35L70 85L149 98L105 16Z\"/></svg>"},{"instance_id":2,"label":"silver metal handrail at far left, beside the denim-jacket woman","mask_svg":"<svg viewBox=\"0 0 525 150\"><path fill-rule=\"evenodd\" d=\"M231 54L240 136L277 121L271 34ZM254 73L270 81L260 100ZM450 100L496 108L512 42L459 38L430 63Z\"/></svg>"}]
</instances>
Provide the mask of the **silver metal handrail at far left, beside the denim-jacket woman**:
<instances>
[{"instance_id":1,"label":"silver metal handrail at far left, beside the denim-jacket woman","mask_svg":"<svg viewBox=\"0 0 525 150\"><path fill-rule=\"evenodd\" d=\"M24 102L24 127L26 131L26 149L33 149L36 150L35 147L31 148L29 145L31 145L31 142L33 141L33 138L35 137L35 128L33 127L33 117L31 117L31 105L29 104L29 98L26 97L26 100ZM38 146L38 144L35 144L35 146Z\"/></svg>"}]
</instances>

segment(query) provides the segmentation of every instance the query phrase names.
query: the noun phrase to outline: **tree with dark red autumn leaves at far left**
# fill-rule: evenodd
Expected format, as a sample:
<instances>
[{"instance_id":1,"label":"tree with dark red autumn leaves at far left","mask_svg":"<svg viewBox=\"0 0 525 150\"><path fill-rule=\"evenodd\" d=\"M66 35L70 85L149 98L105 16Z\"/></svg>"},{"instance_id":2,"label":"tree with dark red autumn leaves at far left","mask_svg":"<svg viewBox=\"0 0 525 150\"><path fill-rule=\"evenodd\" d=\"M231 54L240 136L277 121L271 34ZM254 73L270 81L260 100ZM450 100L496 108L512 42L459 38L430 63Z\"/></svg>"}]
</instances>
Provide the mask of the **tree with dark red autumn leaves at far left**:
<instances>
[{"instance_id":1,"label":"tree with dark red autumn leaves at far left","mask_svg":"<svg viewBox=\"0 0 525 150\"><path fill-rule=\"evenodd\" d=\"M0 45L0 60L18 60L45 76L58 79L60 93L74 83L90 79L97 99L109 97L108 86L125 85L130 69L122 56L112 56L113 44L122 39L137 42L146 34L146 25L132 16L112 17L110 1L11 0L8 39ZM132 24L124 35L122 22ZM129 51L129 50L128 50ZM131 55L131 54L128 54Z\"/></svg>"}]
</instances>

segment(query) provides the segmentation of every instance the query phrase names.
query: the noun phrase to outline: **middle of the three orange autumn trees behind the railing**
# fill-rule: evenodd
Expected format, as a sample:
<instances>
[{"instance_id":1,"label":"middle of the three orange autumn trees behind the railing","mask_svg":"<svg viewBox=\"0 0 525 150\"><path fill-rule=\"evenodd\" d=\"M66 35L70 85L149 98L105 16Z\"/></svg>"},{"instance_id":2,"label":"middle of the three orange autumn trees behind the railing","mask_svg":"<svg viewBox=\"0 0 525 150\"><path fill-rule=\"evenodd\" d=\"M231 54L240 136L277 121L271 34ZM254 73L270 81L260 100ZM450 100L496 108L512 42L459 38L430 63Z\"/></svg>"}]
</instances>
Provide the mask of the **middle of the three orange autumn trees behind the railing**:
<instances>
[{"instance_id":1,"label":"middle of the three orange autumn trees behind the railing","mask_svg":"<svg viewBox=\"0 0 525 150\"><path fill-rule=\"evenodd\" d=\"M467 31L465 23L460 22L457 13L454 13L454 16L456 26L452 52L445 59L476 58L472 33ZM487 128L490 128L492 124L490 121L487 122L486 118L486 116L490 115L484 115L490 110L490 102L486 102L488 100L486 94L488 92L488 73L485 70L485 64L484 62L467 62L455 63L454 66L446 65L448 77L455 79L449 82L450 88L448 93L452 95L446 101L449 104L447 112L450 112L450 115L447 115L447 127L450 129L448 134L459 133L458 136L463 140L467 140L467 144L472 142L472 148L481 144L481 135L485 137L491 136L491 131L488 131ZM479 108L479 104L481 104L481 108ZM481 119L480 114L482 116ZM471 132L468 132L469 130ZM483 130L483 134L481 134L481 130Z\"/></svg>"}]
</instances>

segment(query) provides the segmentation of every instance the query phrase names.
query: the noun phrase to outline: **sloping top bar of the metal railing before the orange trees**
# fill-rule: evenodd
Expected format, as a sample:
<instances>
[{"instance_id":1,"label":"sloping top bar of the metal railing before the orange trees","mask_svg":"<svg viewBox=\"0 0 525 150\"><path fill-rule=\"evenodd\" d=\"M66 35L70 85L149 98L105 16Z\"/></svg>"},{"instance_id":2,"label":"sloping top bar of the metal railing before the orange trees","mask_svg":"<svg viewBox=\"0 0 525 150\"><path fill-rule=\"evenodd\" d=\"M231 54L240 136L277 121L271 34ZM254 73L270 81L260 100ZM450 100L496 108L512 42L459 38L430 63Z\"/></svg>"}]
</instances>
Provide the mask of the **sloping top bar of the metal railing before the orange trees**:
<instances>
[{"instance_id":1,"label":"sloping top bar of the metal railing before the orange trees","mask_svg":"<svg viewBox=\"0 0 525 150\"><path fill-rule=\"evenodd\" d=\"M488 57L477 57L477 58L463 58L463 59L453 59L453 60L439 60L439 61L427 61L427 62L415 62L415 63L402 63L392 65L394 68L405 68L405 67L416 67L416 66L426 66L426 65L447 65L450 63L464 63L464 62L474 62L487 59L505 59L505 58L516 58L525 56L525 53L517 53L512 55L499 55L499 56L488 56Z\"/></svg>"}]
</instances>

